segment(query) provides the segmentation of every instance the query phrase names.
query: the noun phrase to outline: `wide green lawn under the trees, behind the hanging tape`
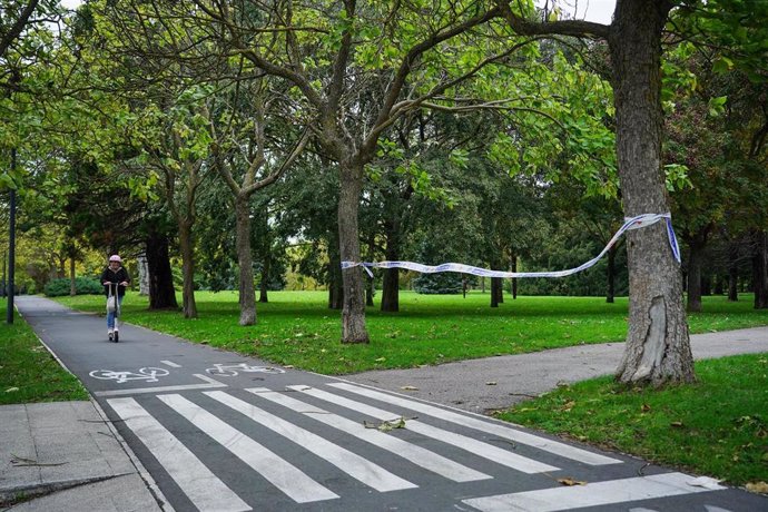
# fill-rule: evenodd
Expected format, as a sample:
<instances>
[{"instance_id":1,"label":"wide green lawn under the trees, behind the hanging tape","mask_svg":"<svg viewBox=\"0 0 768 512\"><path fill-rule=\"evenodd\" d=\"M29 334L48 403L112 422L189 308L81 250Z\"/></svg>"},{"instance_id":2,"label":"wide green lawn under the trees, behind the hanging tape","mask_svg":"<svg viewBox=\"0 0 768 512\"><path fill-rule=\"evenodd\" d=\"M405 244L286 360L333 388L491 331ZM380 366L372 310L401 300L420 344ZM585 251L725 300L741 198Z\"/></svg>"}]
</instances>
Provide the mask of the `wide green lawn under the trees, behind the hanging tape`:
<instances>
[{"instance_id":1,"label":"wide green lawn under the trees, behind the hanging tape","mask_svg":"<svg viewBox=\"0 0 768 512\"><path fill-rule=\"evenodd\" d=\"M58 298L81 311L104 314L104 297ZM621 342L627 334L627 298L505 296L489 307L489 294L419 295L401 293L400 313L367 311L368 345L343 345L339 312L327 308L325 292L272 292L257 304L258 324L243 327L237 293L198 292L199 318L178 312L149 312L147 298L129 293L126 322L198 343L207 343L275 364L324 374L407 368L450 361L520 354L577 344ZM179 298L180 303L180 298ZM691 332L768 325L768 312L752 309L751 296L737 303L705 297L705 313L691 315Z\"/></svg>"}]
</instances>

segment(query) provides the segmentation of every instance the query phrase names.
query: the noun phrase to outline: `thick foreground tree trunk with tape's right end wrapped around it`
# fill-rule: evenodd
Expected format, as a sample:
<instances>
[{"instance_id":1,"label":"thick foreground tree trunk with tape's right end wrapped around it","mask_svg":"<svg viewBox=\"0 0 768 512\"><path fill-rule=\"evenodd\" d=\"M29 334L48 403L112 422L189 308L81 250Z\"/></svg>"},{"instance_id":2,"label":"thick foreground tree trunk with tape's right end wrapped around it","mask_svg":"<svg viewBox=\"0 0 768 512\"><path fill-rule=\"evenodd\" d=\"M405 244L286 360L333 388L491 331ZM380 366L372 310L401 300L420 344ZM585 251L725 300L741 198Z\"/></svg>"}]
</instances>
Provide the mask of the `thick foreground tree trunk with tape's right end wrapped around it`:
<instances>
[{"instance_id":1,"label":"thick foreground tree trunk with tape's right end wrapped around it","mask_svg":"<svg viewBox=\"0 0 768 512\"><path fill-rule=\"evenodd\" d=\"M669 211L661 173L661 29L671 2L619 0L609 36L619 177L628 217ZM663 223L628 232L629 333L623 383L692 382L680 267Z\"/></svg>"}]
</instances>

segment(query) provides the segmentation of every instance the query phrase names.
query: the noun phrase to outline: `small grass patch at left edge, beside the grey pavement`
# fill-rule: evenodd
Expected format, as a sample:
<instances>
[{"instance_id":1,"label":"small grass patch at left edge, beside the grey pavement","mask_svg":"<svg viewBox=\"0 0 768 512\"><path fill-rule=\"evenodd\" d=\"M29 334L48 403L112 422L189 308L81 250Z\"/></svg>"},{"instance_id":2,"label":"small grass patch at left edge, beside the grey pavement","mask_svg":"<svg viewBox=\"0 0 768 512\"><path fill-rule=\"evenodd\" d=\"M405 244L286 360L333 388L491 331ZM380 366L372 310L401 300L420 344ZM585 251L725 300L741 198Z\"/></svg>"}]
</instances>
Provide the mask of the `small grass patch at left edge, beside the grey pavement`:
<instances>
[{"instance_id":1,"label":"small grass patch at left edge, beside the grey pavement","mask_svg":"<svg viewBox=\"0 0 768 512\"><path fill-rule=\"evenodd\" d=\"M40 344L18 315L6 323L7 301L0 298L0 405L88 400L88 393Z\"/></svg>"}]
</instances>

